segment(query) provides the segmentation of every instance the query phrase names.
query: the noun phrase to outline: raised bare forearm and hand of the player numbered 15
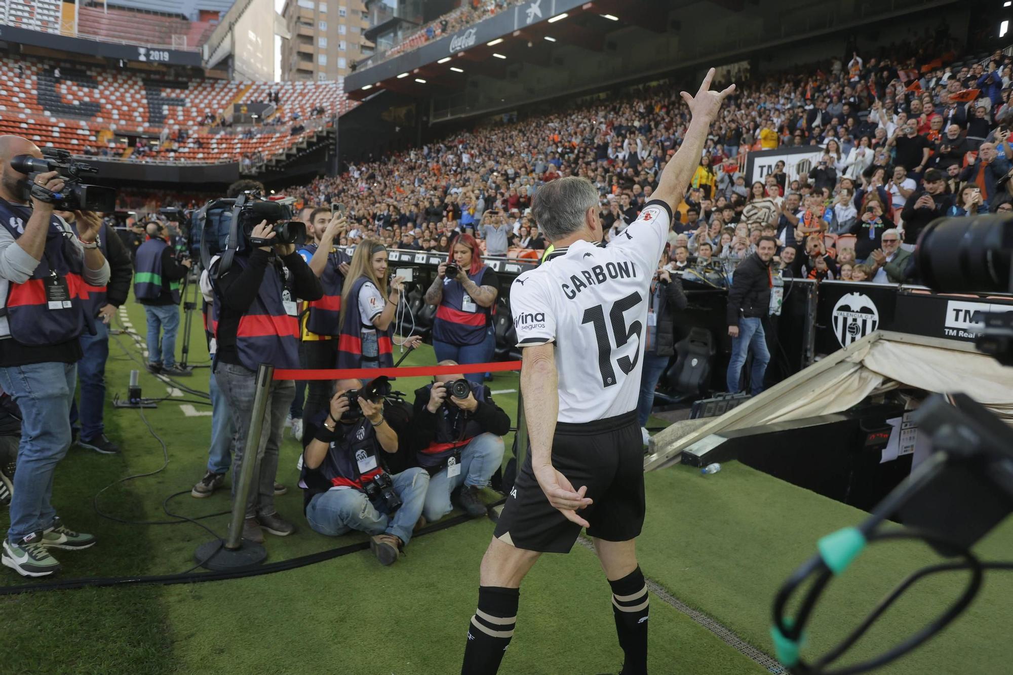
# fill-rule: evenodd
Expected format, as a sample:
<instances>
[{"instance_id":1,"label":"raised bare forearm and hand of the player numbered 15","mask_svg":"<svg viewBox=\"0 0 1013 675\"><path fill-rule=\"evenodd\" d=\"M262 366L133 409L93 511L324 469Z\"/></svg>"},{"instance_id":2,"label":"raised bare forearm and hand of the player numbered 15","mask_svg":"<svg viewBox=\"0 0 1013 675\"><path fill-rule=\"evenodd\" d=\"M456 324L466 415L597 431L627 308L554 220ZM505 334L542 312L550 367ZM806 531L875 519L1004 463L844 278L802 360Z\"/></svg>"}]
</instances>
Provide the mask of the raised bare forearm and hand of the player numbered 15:
<instances>
[{"instance_id":1,"label":"raised bare forearm and hand of the player numbered 15","mask_svg":"<svg viewBox=\"0 0 1013 675\"><path fill-rule=\"evenodd\" d=\"M693 117L686 130L682 146L672 161L666 164L661 177L658 179L657 190L651 195L651 199L668 203L669 208L673 211L683 201L693 172L700 165L700 155L707 140L710 124L717 118L717 113L721 109L721 102L735 90L735 85L731 84L723 91L711 91L710 81L712 79L714 79L713 68L707 71L707 76L703 78L703 83L697 90L696 96L691 96L686 91L680 92L683 100L689 105L690 114Z\"/></svg>"}]
</instances>

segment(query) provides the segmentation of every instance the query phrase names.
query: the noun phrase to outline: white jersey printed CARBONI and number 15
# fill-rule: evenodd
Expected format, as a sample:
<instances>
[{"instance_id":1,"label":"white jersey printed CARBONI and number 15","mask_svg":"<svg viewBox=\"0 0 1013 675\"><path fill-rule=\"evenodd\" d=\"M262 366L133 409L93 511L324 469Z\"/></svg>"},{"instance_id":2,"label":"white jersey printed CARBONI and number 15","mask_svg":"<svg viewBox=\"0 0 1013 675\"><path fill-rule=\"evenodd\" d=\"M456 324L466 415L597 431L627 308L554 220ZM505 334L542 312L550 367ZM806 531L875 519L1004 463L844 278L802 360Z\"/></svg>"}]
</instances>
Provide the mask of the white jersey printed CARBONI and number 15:
<instances>
[{"instance_id":1,"label":"white jersey printed CARBONI and number 15","mask_svg":"<svg viewBox=\"0 0 1013 675\"><path fill-rule=\"evenodd\" d=\"M519 276L510 291L518 347L554 342L559 422L636 407L651 277L672 213L649 202L605 248L577 241Z\"/></svg>"}]
</instances>

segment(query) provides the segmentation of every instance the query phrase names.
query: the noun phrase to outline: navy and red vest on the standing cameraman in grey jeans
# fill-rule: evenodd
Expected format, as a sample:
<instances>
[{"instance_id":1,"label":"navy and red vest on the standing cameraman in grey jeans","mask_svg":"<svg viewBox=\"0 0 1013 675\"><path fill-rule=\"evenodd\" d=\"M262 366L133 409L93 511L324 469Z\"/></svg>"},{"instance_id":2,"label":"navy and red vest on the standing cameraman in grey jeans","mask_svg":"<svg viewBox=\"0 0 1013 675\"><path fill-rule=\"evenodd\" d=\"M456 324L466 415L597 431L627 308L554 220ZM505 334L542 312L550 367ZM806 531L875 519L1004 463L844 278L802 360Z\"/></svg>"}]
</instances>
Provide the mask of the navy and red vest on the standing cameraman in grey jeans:
<instances>
[{"instance_id":1,"label":"navy and red vest on the standing cameraman in grey jeans","mask_svg":"<svg viewBox=\"0 0 1013 675\"><path fill-rule=\"evenodd\" d=\"M245 270L249 258L236 255L233 265ZM216 307L222 302L215 288L211 323L218 336ZM288 309L286 308L288 305ZM278 267L267 262L256 297L239 318L236 329L236 355L246 368L255 371L261 363L275 368L299 368L299 319L292 291L282 281Z\"/></svg>"}]
</instances>

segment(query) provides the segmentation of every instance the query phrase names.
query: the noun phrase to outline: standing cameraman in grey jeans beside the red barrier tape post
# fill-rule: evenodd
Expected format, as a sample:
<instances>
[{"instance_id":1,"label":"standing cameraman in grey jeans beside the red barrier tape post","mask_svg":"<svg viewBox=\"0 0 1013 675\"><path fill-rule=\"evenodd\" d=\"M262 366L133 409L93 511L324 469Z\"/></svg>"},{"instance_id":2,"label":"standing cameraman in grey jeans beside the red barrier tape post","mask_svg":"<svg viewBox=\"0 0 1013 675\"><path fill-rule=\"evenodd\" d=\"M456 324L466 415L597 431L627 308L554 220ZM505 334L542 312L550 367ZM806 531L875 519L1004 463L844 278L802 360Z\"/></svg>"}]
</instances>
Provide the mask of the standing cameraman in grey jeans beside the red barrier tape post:
<instances>
[{"instance_id":1,"label":"standing cameraman in grey jeans beside the red barrier tape post","mask_svg":"<svg viewBox=\"0 0 1013 675\"><path fill-rule=\"evenodd\" d=\"M320 280L296 252L295 244L253 243L276 238L274 225L260 221L249 232L244 228L242 234L245 242L235 251L231 267L219 273L219 258L210 271L218 315L212 368L236 429L233 499L243 459L250 450L246 435L253 417L257 367L265 363L276 368L299 368L299 310L295 299L317 300L323 295ZM263 421L260 446L255 449L258 461L243 523L243 538L255 543L263 541L261 528L277 536L295 531L275 510L278 453L285 416L295 395L292 380L274 380L269 384L269 413Z\"/></svg>"}]
</instances>

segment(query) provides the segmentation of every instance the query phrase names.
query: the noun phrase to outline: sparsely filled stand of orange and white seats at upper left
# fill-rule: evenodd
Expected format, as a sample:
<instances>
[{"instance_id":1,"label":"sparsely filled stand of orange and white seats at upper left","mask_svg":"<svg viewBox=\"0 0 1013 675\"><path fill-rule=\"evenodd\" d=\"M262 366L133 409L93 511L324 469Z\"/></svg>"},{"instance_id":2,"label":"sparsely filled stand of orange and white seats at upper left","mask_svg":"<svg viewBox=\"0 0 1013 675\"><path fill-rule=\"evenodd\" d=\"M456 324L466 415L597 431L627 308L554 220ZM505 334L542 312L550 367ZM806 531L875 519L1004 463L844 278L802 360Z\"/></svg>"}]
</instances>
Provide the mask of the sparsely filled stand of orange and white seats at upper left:
<instances>
[{"instance_id":1,"label":"sparsely filled stand of orange and white seats at upper left","mask_svg":"<svg viewBox=\"0 0 1013 675\"><path fill-rule=\"evenodd\" d=\"M333 82L167 80L31 58L0 60L0 85L10 94L0 102L0 131L40 147L140 161L240 161L244 172L312 141L354 105ZM244 102L275 109L261 125L239 129L227 120L232 104Z\"/></svg>"}]
</instances>

